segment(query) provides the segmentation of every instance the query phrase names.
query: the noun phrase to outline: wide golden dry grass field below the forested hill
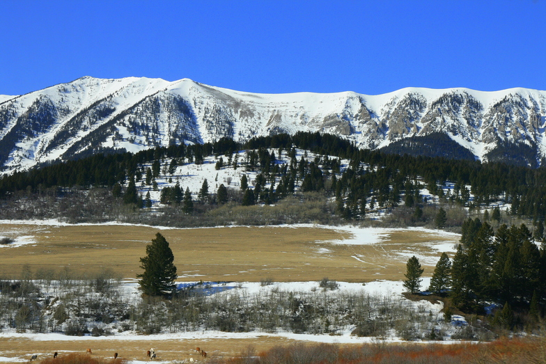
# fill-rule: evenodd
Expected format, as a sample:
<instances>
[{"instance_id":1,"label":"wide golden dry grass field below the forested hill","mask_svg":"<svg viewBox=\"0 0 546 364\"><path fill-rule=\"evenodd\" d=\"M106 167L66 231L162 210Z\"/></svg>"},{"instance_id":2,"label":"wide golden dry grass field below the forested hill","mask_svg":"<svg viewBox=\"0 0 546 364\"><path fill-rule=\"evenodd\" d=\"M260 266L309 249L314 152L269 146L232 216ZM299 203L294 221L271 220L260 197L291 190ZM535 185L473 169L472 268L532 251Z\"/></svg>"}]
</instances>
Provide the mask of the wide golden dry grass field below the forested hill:
<instances>
[{"instance_id":1,"label":"wide golden dry grass field below the forested hill","mask_svg":"<svg viewBox=\"0 0 546 364\"><path fill-rule=\"evenodd\" d=\"M347 230L324 227L232 227L162 229L132 225L0 224L0 235L22 246L0 247L0 278L68 268L73 277L111 269L123 278L141 273L139 258L157 232L169 242L180 281L256 282L402 280L407 254L438 256L431 242L455 244L456 235L422 230L387 230L376 244L335 244ZM426 261L421 262L426 267ZM433 263L430 263L433 264ZM435 263L434 263L435 264ZM426 269L425 276L432 274Z\"/></svg>"}]
</instances>

